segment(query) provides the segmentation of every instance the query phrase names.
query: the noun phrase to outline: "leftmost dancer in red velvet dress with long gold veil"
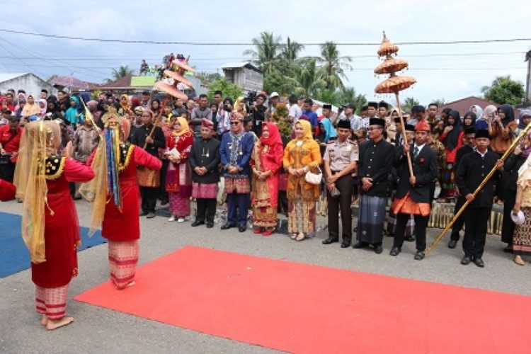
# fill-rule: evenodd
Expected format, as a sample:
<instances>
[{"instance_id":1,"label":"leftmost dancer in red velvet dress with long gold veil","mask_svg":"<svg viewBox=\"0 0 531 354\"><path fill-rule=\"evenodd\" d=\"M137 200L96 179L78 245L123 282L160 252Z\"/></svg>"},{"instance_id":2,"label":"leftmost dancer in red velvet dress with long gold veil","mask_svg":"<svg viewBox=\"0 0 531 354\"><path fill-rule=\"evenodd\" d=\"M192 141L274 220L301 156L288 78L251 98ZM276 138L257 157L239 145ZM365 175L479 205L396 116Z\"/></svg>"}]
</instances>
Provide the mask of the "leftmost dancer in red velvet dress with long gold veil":
<instances>
[{"instance_id":1,"label":"leftmost dancer in red velvet dress with long gold veil","mask_svg":"<svg viewBox=\"0 0 531 354\"><path fill-rule=\"evenodd\" d=\"M41 324L57 329L72 323L66 317L68 286L77 275L79 224L69 182L94 178L89 166L57 154L61 129L55 121L25 125L15 170L16 196L23 200L22 237L30 250Z\"/></svg>"}]
</instances>

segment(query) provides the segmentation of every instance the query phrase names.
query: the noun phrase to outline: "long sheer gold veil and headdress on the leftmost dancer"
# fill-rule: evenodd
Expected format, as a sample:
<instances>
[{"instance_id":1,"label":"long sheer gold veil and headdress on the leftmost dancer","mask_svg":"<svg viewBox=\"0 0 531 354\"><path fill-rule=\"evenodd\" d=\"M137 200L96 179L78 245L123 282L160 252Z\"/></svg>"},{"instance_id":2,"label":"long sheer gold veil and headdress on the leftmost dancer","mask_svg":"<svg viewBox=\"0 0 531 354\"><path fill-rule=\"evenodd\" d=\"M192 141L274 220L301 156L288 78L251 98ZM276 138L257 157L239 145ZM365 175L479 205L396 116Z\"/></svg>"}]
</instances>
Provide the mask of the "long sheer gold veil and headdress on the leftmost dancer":
<instances>
[{"instance_id":1,"label":"long sheer gold veil and headdress on the leftmost dancer","mask_svg":"<svg viewBox=\"0 0 531 354\"><path fill-rule=\"evenodd\" d=\"M33 263L45 262L46 159L61 144L61 128L53 120L25 125L18 150L14 184L23 200L22 238ZM53 215L53 211L50 210Z\"/></svg>"}]
</instances>

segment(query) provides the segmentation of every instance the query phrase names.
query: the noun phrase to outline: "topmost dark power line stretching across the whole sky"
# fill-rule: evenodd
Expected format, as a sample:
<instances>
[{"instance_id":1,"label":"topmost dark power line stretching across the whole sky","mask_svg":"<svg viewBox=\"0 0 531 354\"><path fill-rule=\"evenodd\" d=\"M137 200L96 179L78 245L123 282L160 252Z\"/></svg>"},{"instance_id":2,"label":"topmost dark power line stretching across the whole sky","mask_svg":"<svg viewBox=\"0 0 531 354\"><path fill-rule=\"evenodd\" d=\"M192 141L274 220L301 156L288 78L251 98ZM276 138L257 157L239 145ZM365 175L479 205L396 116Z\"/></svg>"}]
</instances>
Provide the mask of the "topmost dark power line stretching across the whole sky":
<instances>
[{"instance_id":1,"label":"topmost dark power line stretching across the whole sky","mask_svg":"<svg viewBox=\"0 0 531 354\"><path fill-rule=\"evenodd\" d=\"M158 40L119 40L119 39L106 39L106 38L85 38L85 37L73 37L68 35L50 35L47 33L35 33L25 32L21 30L8 30L6 28L0 28L0 32L15 33L18 35L33 35L46 38L57 38L66 40L84 40L88 42L115 42L115 43L131 43L131 44L152 44L152 45L209 45L209 46L242 46L253 45L253 43L246 42L166 42ZM499 43L499 42L525 42L531 38L510 38L510 39L489 39L489 40L445 40L445 41L424 41L424 42L395 42L396 45L449 45L449 44L472 44L472 43ZM279 43L280 44L280 43ZM322 45L324 43L299 43L302 45ZM365 46L365 45L380 45L379 42L343 42L336 43L336 45L352 45L352 46Z\"/></svg>"}]
</instances>

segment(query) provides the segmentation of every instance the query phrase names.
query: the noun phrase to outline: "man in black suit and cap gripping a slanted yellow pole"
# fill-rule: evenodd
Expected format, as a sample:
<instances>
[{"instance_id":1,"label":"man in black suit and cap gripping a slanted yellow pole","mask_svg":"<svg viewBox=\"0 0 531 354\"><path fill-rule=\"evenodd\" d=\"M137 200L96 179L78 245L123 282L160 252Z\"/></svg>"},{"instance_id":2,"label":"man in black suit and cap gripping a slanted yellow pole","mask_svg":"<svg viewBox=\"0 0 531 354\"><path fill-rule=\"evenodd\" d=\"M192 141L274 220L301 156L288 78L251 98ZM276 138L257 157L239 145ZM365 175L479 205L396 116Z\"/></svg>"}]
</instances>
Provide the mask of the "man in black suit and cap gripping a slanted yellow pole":
<instances>
[{"instance_id":1,"label":"man in black suit and cap gripping a slanted yellow pole","mask_svg":"<svg viewBox=\"0 0 531 354\"><path fill-rule=\"evenodd\" d=\"M481 256L485 248L487 222L491 215L494 188L500 175L499 171L503 169L503 161L498 159L497 154L487 149L491 142L488 130L477 130L475 140L476 152L463 156L459 162L455 181L459 193L470 202L464 215L464 257L461 264L467 265L474 261L478 267L484 267ZM498 171L474 198L472 193L494 167Z\"/></svg>"}]
</instances>

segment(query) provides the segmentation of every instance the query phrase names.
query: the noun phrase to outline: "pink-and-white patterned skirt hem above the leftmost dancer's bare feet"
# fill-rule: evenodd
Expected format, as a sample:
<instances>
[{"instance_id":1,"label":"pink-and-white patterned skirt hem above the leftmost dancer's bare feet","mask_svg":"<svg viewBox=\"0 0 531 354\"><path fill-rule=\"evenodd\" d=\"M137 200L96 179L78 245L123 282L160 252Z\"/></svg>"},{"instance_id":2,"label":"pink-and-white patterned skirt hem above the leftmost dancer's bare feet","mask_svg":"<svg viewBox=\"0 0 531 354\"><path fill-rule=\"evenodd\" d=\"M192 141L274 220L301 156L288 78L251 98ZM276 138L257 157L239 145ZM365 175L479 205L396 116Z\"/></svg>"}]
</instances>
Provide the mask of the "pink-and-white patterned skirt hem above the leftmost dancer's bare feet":
<instances>
[{"instance_id":1,"label":"pink-and-white patterned skirt hem above the leftmost dancer's bare feet","mask_svg":"<svg viewBox=\"0 0 531 354\"><path fill-rule=\"evenodd\" d=\"M67 312L68 284L62 287L40 287L35 285L35 309L48 319L57 321Z\"/></svg>"}]
</instances>

